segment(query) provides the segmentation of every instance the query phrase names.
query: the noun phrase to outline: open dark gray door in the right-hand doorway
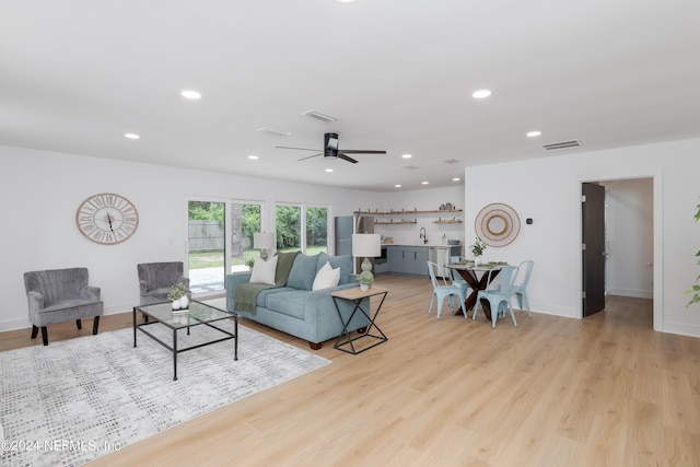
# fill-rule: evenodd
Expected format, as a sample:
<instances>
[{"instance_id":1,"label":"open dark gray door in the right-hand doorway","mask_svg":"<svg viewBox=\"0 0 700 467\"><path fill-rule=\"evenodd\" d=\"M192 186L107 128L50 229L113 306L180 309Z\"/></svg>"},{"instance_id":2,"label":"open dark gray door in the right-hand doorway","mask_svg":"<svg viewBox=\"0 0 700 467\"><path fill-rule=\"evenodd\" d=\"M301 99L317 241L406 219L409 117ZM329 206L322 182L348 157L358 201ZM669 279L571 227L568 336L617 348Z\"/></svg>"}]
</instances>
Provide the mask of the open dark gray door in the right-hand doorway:
<instances>
[{"instance_id":1,"label":"open dark gray door in the right-hand doorway","mask_svg":"<svg viewBox=\"0 0 700 467\"><path fill-rule=\"evenodd\" d=\"M583 316L605 308L605 187L583 184Z\"/></svg>"}]
</instances>

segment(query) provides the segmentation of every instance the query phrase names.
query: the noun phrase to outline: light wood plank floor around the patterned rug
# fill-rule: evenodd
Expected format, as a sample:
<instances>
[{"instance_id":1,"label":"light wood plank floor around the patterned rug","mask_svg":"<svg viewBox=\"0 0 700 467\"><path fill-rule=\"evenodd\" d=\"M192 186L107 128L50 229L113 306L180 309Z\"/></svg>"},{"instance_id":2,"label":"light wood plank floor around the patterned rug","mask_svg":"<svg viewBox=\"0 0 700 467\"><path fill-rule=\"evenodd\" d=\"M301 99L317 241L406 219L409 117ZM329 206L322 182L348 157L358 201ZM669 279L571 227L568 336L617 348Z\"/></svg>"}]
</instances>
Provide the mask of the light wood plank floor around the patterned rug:
<instances>
[{"instance_id":1,"label":"light wood plank floor around the patterned rug","mask_svg":"<svg viewBox=\"0 0 700 467\"><path fill-rule=\"evenodd\" d=\"M91 466L700 466L700 339L654 332L650 301L614 296L583 320L516 312L518 328L491 329L428 315L428 279L377 283L386 343L350 355L326 342L332 364ZM0 350L40 343L28 335L0 335Z\"/></svg>"}]
</instances>

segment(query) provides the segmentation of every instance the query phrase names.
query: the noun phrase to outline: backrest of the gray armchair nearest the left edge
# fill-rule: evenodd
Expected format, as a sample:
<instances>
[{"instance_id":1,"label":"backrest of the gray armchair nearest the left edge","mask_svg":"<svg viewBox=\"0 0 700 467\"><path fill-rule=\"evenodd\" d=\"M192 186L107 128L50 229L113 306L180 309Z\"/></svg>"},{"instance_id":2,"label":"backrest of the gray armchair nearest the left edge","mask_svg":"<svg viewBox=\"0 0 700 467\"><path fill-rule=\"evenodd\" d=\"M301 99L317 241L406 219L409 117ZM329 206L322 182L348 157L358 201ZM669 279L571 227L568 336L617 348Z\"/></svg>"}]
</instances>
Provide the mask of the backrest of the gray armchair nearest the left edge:
<instances>
[{"instance_id":1,"label":"backrest of the gray armchair nearest the left edge","mask_svg":"<svg viewBox=\"0 0 700 467\"><path fill-rule=\"evenodd\" d=\"M80 289L88 285L88 268L47 269L24 273L26 292L44 295L44 306L65 299L80 297Z\"/></svg>"}]
</instances>

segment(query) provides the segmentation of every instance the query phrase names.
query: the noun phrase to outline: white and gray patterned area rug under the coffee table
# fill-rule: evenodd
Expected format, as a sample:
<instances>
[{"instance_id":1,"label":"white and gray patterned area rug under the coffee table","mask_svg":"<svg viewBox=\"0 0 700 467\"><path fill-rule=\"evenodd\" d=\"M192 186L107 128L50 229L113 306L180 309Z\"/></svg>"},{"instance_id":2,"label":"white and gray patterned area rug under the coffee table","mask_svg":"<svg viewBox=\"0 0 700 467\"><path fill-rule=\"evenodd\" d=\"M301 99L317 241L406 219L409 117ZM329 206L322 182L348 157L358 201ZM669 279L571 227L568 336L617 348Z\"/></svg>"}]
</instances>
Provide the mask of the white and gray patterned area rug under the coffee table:
<instances>
[{"instance_id":1,"label":"white and gray patterned area rug under the coffee table","mask_svg":"<svg viewBox=\"0 0 700 467\"><path fill-rule=\"evenodd\" d=\"M178 347L211 332L222 336L183 331ZM238 361L233 340L186 351L177 381L172 353L142 332L133 348L132 329L1 352L0 465L82 465L330 363L241 325L238 334Z\"/></svg>"}]
</instances>

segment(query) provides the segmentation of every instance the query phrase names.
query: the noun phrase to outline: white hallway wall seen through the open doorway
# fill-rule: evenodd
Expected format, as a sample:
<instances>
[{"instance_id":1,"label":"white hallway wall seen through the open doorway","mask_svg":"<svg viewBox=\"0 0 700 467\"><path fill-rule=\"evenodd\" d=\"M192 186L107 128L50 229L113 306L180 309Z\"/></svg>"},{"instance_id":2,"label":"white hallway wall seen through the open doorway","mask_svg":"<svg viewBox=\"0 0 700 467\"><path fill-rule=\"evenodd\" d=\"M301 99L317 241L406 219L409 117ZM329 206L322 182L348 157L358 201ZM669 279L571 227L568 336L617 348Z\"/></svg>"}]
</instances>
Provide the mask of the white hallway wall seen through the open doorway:
<instances>
[{"instance_id":1,"label":"white hallway wall seen through the open doorway","mask_svg":"<svg viewBox=\"0 0 700 467\"><path fill-rule=\"evenodd\" d=\"M634 178L604 185L608 200L607 290L612 295L652 299L653 180Z\"/></svg>"}]
</instances>

